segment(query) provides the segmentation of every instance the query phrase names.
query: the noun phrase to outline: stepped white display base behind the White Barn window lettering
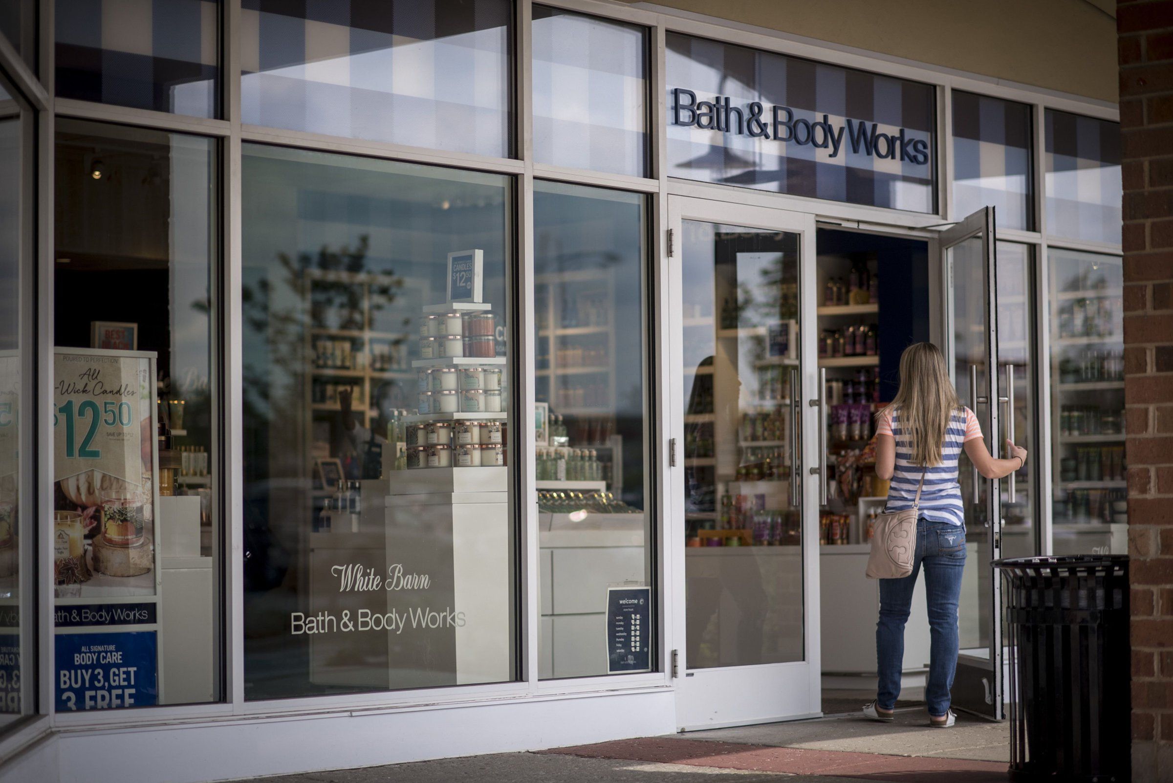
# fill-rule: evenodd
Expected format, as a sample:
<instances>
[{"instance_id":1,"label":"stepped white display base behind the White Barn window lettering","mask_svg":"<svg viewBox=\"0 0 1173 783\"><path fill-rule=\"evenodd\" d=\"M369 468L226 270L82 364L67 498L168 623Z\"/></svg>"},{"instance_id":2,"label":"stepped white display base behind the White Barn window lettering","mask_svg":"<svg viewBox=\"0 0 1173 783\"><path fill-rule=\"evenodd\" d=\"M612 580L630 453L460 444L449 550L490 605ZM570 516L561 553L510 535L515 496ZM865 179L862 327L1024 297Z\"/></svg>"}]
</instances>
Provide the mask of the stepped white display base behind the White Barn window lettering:
<instances>
[{"instance_id":1,"label":"stepped white display base behind the White Barn window lettering","mask_svg":"<svg viewBox=\"0 0 1173 783\"><path fill-rule=\"evenodd\" d=\"M311 673L321 685L411 688L499 682L510 678L510 549L504 492L388 497L381 532L311 536L311 613L452 610L454 628L367 631L311 636ZM501 502L486 502L496 499ZM455 502L454 502L455 501ZM473 501L473 502L461 502ZM337 565L386 576L426 574L420 590L339 593ZM387 667L369 661L386 660ZM361 665L360 665L361 663Z\"/></svg>"}]
</instances>

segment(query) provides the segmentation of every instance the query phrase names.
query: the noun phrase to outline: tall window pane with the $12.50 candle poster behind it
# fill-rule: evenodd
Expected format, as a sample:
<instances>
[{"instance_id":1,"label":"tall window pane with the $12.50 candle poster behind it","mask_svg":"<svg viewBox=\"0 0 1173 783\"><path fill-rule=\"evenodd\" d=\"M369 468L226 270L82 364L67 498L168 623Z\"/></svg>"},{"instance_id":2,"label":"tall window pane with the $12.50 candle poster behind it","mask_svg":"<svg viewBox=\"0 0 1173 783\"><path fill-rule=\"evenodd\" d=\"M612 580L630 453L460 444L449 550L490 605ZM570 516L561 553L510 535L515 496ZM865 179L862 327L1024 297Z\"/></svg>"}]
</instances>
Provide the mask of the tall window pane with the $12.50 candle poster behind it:
<instances>
[{"instance_id":1,"label":"tall window pane with the $12.50 candle poster behind it","mask_svg":"<svg viewBox=\"0 0 1173 783\"><path fill-rule=\"evenodd\" d=\"M56 709L218 701L217 145L56 128Z\"/></svg>"}]
</instances>

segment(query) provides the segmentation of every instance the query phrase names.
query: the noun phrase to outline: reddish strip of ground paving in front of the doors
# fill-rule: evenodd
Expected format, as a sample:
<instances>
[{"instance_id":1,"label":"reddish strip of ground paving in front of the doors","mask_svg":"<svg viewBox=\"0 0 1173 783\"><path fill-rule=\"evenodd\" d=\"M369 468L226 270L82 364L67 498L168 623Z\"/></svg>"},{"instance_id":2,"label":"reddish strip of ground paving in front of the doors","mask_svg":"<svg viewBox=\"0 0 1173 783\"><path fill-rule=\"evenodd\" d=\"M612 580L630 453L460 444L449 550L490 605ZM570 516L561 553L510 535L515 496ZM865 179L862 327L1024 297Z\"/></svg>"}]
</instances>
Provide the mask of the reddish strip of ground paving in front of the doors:
<instances>
[{"instance_id":1,"label":"reddish strip of ground paving in front of the doors","mask_svg":"<svg viewBox=\"0 0 1173 783\"><path fill-rule=\"evenodd\" d=\"M967 758L886 756L848 750L777 748L710 740L664 740L646 737L619 740L592 745L555 748L541 753L619 758L693 767L716 767L791 775L830 775L870 781L909 783L994 783L1009 779L1008 764Z\"/></svg>"}]
</instances>

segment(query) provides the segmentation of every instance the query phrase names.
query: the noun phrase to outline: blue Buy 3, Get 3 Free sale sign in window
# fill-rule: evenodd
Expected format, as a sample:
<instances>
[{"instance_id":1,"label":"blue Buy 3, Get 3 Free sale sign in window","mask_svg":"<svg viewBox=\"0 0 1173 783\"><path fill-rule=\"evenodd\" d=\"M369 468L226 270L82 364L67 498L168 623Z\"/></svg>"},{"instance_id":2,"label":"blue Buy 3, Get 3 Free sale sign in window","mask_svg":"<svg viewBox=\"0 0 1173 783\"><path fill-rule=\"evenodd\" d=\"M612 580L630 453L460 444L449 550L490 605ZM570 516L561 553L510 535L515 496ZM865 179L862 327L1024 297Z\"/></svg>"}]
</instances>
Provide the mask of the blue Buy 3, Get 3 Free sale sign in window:
<instances>
[{"instance_id":1,"label":"blue Buy 3, Get 3 Free sale sign in window","mask_svg":"<svg viewBox=\"0 0 1173 783\"><path fill-rule=\"evenodd\" d=\"M143 707L158 701L154 631L56 635L57 710Z\"/></svg>"}]
</instances>

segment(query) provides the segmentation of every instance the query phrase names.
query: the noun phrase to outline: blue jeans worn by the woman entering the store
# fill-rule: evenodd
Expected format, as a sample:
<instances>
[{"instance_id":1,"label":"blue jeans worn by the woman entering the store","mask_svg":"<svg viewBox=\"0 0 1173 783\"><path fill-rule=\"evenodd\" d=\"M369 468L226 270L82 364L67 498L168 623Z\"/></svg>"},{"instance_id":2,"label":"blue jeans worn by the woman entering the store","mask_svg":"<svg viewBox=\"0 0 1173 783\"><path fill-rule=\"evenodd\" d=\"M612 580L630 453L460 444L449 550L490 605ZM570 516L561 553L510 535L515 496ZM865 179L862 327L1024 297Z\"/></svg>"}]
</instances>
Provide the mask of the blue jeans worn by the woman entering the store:
<instances>
[{"instance_id":1,"label":"blue jeans worn by the woman entering the store","mask_svg":"<svg viewBox=\"0 0 1173 783\"><path fill-rule=\"evenodd\" d=\"M957 670L957 601L965 568L965 529L924 517L916 520L916 556L913 573L880 580L880 621L876 622L876 660L880 683L876 702L893 709L900 696L904 662L904 624L913 608L913 588L924 566L924 594L929 608L929 681L924 700L929 715L949 711L949 689Z\"/></svg>"}]
</instances>

